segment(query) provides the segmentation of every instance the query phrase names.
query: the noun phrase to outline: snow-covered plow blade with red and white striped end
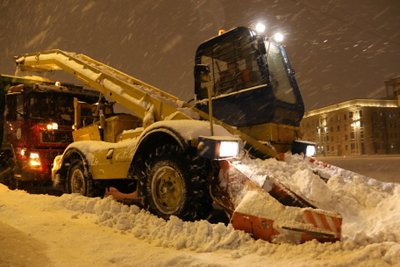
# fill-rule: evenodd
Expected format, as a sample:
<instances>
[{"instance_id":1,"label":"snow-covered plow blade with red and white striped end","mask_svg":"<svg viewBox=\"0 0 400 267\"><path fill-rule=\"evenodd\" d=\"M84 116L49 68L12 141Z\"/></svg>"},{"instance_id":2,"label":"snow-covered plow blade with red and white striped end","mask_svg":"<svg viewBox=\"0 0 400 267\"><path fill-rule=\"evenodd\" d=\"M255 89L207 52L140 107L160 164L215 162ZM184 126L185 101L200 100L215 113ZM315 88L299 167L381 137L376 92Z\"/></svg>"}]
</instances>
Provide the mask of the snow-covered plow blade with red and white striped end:
<instances>
[{"instance_id":1,"label":"snow-covered plow blade with red and white striped end","mask_svg":"<svg viewBox=\"0 0 400 267\"><path fill-rule=\"evenodd\" d=\"M267 177L266 182L258 185L230 162L221 161L219 181L214 181L211 194L230 214L232 226L255 239L277 243L340 240L338 213L317 209L277 180Z\"/></svg>"}]
</instances>

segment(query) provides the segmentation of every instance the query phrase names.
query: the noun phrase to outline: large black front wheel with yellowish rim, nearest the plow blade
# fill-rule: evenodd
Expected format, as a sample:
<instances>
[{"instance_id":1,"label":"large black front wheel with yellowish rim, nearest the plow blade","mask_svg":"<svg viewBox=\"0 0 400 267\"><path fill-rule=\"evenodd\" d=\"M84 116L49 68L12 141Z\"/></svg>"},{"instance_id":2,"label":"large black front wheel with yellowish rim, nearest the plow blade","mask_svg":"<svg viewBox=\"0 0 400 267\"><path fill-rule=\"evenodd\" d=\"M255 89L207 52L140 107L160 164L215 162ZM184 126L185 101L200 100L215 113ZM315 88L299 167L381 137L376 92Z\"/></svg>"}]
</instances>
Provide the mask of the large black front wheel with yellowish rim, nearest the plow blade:
<instances>
[{"instance_id":1,"label":"large black front wheel with yellowish rim, nearest the plow blade","mask_svg":"<svg viewBox=\"0 0 400 267\"><path fill-rule=\"evenodd\" d=\"M158 147L145 161L141 187L145 207L162 218L205 219L211 211L205 163L184 155L177 146Z\"/></svg>"}]
</instances>

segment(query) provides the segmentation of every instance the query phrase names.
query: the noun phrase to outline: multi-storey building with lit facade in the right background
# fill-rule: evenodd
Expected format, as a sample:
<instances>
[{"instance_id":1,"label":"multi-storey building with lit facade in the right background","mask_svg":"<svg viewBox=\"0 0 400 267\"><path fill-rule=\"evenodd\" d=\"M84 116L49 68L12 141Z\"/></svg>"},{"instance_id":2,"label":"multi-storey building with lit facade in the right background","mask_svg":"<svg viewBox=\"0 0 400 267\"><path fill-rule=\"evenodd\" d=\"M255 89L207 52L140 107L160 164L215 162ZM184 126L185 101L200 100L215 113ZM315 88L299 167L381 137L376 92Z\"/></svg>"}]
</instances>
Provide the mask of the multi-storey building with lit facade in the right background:
<instances>
[{"instance_id":1,"label":"multi-storey building with lit facade in the right background","mask_svg":"<svg viewBox=\"0 0 400 267\"><path fill-rule=\"evenodd\" d=\"M400 154L400 77L385 86L385 99L353 99L306 112L303 139L317 143L318 155Z\"/></svg>"}]
</instances>

